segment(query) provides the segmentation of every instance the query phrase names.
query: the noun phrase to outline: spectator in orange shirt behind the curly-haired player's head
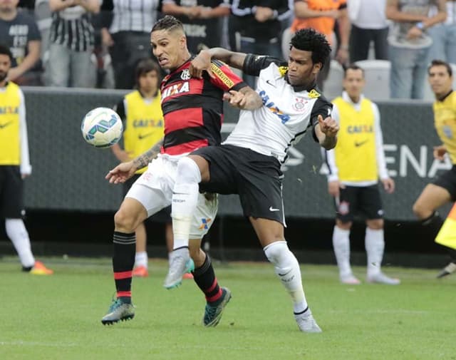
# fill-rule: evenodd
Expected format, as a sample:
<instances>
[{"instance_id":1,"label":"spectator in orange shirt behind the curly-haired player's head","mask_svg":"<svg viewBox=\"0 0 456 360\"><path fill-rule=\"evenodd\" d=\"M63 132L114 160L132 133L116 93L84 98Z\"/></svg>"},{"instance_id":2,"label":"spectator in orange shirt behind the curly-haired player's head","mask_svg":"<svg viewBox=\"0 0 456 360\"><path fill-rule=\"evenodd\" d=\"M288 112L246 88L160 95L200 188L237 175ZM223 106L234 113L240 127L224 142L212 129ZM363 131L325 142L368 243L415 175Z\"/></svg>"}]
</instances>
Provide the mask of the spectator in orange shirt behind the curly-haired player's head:
<instances>
[{"instance_id":1,"label":"spectator in orange shirt behind the curly-haired player's head","mask_svg":"<svg viewBox=\"0 0 456 360\"><path fill-rule=\"evenodd\" d=\"M325 34L333 48L338 48L336 60L341 64L348 61L348 38L350 36L350 22L348 21L346 0L296 0L294 2L295 19L291 24L291 31L314 28L321 34ZM333 29L339 26L341 43L333 44ZM323 91L323 83L328 77L331 58L326 60L318 74L317 85Z\"/></svg>"}]
</instances>

